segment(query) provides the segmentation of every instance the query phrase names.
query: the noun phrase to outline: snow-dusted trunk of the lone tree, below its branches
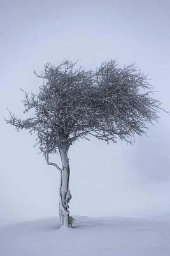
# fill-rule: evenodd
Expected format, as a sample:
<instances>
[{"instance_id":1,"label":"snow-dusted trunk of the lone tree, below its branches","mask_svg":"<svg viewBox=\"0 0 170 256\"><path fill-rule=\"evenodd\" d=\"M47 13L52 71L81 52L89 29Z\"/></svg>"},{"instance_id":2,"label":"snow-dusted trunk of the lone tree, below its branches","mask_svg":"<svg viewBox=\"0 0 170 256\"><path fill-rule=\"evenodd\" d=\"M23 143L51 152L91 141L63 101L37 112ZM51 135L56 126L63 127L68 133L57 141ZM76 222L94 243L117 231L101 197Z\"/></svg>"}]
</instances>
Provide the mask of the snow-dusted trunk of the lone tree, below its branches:
<instances>
[{"instance_id":1,"label":"snow-dusted trunk of the lone tree, below its branches","mask_svg":"<svg viewBox=\"0 0 170 256\"><path fill-rule=\"evenodd\" d=\"M60 157L62 161L62 170L60 171L60 188L59 188L59 216L61 227L72 227L72 218L69 216L69 201L71 193L69 191L69 159L67 157L68 145L63 144L59 147Z\"/></svg>"}]
</instances>

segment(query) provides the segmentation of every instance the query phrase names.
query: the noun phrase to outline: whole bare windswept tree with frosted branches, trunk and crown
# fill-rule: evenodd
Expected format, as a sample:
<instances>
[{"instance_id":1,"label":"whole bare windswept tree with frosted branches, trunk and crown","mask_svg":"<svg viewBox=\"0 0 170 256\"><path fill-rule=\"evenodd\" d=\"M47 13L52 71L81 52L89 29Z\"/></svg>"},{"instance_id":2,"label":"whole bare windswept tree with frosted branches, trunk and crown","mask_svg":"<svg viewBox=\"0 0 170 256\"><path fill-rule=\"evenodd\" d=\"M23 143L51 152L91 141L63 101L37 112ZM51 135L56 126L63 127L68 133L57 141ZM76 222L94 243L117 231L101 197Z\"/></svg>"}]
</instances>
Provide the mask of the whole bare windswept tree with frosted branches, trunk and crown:
<instances>
[{"instance_id":1,"label":"whole bare windswept tree with frosted branches, trunk and crown","mask_svg":"<svg viewBox=\"0 0 170 256\"><path fill-rule=\"evenodd\" d=\"M46 163L60 172L59 216L61 226L71 227L69 215L69 147L89 135L107 143L117 139L132 143L135 134L146 134L148 124L157 122L159 100L150 97L153 86L135 65L120 68L115 60L102 63L96 70L76 69L76 63L63 61L55 67L45 65L41 75L45 80L39 93L25 93L24 113L33 111L22 120L10 111L6 120L20 129L36 132L36 145ZM163 109L164 110L164 109ZM50 163L49 155L59 151L62 167Z\"/></svg>"}]
</instances>

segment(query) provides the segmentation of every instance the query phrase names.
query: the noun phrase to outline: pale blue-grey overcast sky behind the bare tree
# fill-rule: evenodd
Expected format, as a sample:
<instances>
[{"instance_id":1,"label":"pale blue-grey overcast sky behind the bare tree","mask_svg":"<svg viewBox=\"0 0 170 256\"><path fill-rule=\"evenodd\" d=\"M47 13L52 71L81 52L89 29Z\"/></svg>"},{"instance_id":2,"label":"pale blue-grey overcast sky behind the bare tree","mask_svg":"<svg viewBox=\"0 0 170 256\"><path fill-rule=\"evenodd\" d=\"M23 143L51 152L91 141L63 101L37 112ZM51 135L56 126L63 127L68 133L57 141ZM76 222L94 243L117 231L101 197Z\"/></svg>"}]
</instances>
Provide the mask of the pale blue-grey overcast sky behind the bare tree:
<instances>
[{"instance_id":1,"label":"pale blue-grey overcast sky behind the bare tree","mask_svg":"<svg viewBox=\"0 0 170 256\"><path fill-rule=\"evenodd\" d=\"M96 68L104 60L137 65L170 110L169 0L0 1L0 224L58 214L59 174L33 148L35 137L6 125L22 116L24 95L42 81L33 70L64 58ZM170 212L170 116L134 146L80 141L69 152L71 213L139 216ZM56 163L60 163L55 156Z\"/></svg>"}]
</instances>

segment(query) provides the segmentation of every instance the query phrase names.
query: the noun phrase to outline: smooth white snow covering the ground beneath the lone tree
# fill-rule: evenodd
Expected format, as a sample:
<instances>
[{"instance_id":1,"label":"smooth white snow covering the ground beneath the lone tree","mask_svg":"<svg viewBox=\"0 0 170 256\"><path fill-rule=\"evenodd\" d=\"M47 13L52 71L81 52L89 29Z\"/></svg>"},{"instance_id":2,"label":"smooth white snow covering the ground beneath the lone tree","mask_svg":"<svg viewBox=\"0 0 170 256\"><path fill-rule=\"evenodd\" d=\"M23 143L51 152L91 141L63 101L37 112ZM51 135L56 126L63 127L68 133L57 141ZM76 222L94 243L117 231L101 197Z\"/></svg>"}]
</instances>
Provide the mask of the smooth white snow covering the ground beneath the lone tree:
<instances>
[{"instance_id":1,"label":"smooth white snow covering the ground beneath the lone tree","mask_svg":"<svg viewBox=\"0 0 170 256\"><path fill-rule=\"evenodd\" d=\"M1 256L169 256L170 216L50 218L0 227ZM57 224L56 224L57 223Z\"/></svg>"}]
</instances>

